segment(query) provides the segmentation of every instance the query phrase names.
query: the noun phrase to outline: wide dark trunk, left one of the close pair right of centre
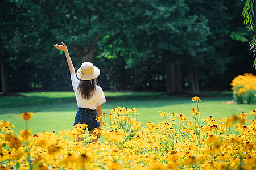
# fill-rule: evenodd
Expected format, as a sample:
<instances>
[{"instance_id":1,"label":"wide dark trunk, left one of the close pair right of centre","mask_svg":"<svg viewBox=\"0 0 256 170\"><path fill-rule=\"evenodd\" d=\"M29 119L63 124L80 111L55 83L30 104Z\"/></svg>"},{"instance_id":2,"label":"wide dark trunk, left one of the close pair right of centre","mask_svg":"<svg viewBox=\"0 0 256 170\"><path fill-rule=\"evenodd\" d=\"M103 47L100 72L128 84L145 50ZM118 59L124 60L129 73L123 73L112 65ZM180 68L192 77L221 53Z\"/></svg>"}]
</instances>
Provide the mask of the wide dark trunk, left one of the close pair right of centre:
<instances>
[{"instance_id":1,"label":"wide dark trunk, left one of the close pair right of centre","mask_svg":"<svg viewBox=\"0 0 256 170\"><path fill-rule=\"evenodd\" d=\"M166 78L167 78L167 92L178 94L183 92L182 75L179 59L174 61L166 61Z\"/></svg>"}]
</instances>

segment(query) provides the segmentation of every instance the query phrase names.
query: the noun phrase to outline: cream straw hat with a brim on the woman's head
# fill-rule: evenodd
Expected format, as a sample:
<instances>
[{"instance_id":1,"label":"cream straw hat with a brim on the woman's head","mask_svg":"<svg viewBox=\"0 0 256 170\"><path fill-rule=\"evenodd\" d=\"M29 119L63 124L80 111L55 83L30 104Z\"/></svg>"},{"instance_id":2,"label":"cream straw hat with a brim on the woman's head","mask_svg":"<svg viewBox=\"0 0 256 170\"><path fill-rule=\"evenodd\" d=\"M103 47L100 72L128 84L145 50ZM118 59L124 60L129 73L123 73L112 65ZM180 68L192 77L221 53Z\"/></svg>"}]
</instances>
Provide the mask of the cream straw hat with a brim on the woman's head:
<instances>
[{"instance_id":1,"label":"cream straw hat with a brim on the woman's head","mask_svg":"<svg viewBox=\"0 0 256 170\"><path fill-rule=\"evenodd\" d=\"M91 62L82 63L81 67L76 71L76 76L81 80L96 79L100 75L100 69L93 66Z\"/></svg>"}]
</instances>

